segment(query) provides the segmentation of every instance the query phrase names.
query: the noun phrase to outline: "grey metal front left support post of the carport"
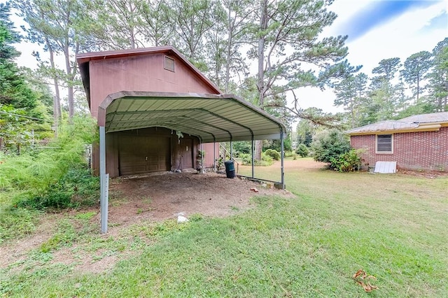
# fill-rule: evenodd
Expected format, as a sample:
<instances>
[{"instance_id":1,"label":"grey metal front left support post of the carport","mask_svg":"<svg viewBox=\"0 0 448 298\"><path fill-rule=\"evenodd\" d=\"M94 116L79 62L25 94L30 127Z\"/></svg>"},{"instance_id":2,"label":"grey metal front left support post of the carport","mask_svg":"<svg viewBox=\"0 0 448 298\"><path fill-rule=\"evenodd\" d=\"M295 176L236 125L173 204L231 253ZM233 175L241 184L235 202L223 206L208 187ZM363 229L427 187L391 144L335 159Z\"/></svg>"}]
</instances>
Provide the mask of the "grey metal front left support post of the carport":
<instances>
[{"instance_id":1,"label":"grey metal front left support post of the carport","mask_svg":"<svg viewBox=\"0 0 448 298\"><path fill-rule=\"evenodd\" d=\"M109 209L109 174L106 174L106 129L99 127L99 180L101 187L100 212L101 232L107 233L107 213Z\"/></svg>"}]
</instances>

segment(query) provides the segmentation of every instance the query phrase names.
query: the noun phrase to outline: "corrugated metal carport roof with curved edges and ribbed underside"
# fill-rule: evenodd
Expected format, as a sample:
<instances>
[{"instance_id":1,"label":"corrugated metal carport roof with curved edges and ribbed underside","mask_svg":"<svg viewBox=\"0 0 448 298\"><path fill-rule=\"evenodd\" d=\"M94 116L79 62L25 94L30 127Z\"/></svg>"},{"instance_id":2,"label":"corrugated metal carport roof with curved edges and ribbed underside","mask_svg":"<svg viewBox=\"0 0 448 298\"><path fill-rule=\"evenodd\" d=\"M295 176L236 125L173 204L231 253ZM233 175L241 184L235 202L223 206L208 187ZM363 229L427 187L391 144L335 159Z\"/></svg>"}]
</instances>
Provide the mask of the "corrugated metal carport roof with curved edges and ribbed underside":
<instances>
[{"instance_id":1,"label":"corrugated metal carport roof with curved edges and ribbed underside","mask_svg":"<svg viewBox=\"0 0 448 298\"><path fill-rule=\"evenodd\" d=\"M106 132L166 127L197 136L203 143L286 136L279 120L228 94L117 92L99 106L98 124Z\"/></svg>"}]
</instances>

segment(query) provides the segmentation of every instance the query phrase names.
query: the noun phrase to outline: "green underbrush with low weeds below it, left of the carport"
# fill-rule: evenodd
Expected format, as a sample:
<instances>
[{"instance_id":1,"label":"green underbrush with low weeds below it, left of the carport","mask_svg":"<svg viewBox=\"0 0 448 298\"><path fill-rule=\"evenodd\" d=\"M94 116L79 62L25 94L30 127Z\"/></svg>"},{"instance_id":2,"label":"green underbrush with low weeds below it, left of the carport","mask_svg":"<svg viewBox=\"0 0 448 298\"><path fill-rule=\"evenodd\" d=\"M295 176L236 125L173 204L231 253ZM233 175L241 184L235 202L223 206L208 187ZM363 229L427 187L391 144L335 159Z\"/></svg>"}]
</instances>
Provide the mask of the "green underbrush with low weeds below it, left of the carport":
<instances>
[{"instance_id":1,"label":"green underbrush with low weeds below it, left of the carport","mask_svg":"<svg viewBox=\"0 0 448 298\"><path fill-rule=\"evenodd\" d=\"M30 234L42 211L92 206L99 179L85 161L95 139L90 118L73 118L47 146L0 156L0 243Z\"/></svg>"}]
</instances>

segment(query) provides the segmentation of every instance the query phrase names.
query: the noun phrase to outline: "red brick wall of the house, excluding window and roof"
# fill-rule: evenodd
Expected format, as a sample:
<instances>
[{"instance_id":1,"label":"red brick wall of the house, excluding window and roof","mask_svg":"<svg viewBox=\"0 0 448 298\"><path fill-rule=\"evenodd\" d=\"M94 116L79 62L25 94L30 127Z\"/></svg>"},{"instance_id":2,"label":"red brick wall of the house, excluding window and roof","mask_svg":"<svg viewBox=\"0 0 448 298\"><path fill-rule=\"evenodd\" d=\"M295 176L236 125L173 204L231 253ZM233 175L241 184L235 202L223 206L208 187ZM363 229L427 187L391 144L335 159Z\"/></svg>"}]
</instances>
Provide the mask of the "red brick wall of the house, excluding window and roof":
<instances>
[{"instance_id":1,"label":"red brick wall of the house, excluding window and roof","mask_svg":"<svg viewBox=\"0 0 448 298\"><path fill-rule=\"evenodd\" d=\"M365 148L366 164L377 161L397 162L398 169L448 171L448 127L438 132L406 132L393 134L393 154L375 153L374 134L351 136L353 148Z\"/></svg>"}]
</instances>

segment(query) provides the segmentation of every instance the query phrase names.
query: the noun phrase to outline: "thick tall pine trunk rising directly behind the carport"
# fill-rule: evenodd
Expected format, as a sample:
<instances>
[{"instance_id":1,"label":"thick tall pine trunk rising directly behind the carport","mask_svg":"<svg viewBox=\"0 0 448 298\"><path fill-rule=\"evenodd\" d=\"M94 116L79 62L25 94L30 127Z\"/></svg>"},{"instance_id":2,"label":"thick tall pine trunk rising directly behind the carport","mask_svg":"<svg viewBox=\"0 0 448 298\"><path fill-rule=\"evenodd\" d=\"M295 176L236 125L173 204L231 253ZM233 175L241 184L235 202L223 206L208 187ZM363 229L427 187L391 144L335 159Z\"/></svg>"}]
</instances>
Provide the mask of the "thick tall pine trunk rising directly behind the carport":
<instances>
[{"instance_id":1,"label":"thick tall pine trunk rising directly behind the carport","mask_svg":"<svg viewBox=\"0 0 448 298\"><path fill-rule=\"evenodd\" d=\"M260 14L260 31L265 31L267 27L267 0L262 0ZM258 104L264 110L265 104L265 36L258 38ZM261 160L263 141L255 141L255 159Z\"/></svg>"}]
</instances>

